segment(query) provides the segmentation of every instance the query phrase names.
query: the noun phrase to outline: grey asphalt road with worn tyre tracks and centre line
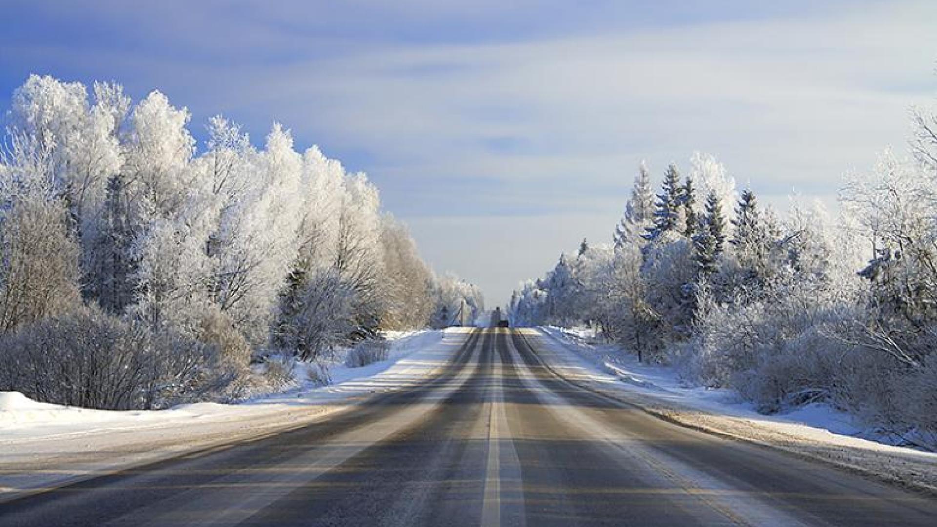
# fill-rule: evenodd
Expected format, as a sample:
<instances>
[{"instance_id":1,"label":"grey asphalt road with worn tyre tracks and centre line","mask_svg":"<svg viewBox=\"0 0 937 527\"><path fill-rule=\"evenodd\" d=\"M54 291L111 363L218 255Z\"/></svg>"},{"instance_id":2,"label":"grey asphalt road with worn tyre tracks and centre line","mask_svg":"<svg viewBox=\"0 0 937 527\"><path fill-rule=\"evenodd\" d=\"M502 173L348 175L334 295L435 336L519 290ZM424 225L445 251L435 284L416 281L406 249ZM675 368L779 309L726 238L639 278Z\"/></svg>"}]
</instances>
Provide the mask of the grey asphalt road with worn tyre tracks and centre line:
<instances>
[{"instance_id":1,"label":"grey asphalt road with worn tyre tracks and centre line","mask_svg":"<svg viewBox=\"0 0 937 527\"><path fill-rule=\"evenodd\" d=\"M477 331L318 424L0 504L0 525L937 525L934 500L661 421Z\"/></svg>"}]
</instances>

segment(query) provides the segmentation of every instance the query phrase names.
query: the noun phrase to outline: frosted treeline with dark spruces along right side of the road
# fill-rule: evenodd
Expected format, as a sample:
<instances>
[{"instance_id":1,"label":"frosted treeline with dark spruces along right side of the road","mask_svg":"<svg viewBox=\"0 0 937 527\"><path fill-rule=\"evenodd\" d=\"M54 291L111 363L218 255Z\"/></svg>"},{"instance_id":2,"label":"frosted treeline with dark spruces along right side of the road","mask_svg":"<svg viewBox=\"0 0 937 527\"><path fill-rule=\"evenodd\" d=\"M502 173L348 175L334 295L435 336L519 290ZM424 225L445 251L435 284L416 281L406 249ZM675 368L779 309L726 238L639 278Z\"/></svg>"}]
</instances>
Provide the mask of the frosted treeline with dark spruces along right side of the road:
<instances>
[{"instance_id":1,"label":"frosted treeline with dark spruces along right side of the road","mask_svg":"<svg viewBox=\"0 0 937 527\"><path fill-rule=\"evenodd\" d=\"M780 218L712 156L655 196L642 164L613 244L584 241L513 294L514 324L592 324L692 383L775 412L827 401L937 447L937 114L841 189Z\"/></svg>"}]
</instances>

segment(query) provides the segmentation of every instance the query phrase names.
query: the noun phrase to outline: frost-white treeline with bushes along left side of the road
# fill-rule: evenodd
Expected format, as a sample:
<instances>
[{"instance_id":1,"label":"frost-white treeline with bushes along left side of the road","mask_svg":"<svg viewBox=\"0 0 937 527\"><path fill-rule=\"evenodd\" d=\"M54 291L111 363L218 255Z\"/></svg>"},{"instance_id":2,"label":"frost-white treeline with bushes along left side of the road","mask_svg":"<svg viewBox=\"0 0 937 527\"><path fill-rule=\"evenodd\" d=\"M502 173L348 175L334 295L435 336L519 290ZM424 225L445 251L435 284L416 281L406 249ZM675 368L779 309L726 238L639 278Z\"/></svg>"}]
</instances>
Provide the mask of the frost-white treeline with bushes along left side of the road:
<instances>
[{"instance_id":1,"label":"frost-white treeline with bushes along left side of the road","mask_svg":"<svg viewBox=\"0 0 937 527\"><path fill-rule=\"evenodd\" d=\"M445 325L477 288L437 277L378 189L275 124L119 84L30 77L0 158L0 390L98 408L231 398L269 356L315 361Z\"/></svg>"}]
</instances>

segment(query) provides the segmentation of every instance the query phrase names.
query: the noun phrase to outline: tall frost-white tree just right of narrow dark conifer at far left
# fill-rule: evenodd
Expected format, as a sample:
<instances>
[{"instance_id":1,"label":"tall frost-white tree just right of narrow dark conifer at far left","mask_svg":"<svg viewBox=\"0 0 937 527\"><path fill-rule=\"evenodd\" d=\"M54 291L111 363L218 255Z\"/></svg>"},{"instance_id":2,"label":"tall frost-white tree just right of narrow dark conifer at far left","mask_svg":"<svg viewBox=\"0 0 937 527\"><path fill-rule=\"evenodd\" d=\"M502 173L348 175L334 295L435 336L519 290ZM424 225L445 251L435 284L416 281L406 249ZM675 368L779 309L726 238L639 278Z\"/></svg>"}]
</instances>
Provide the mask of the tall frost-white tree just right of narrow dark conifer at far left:
<instances>
[{"instance_id":1,"label":"tall frost-white tree just right of narrow dark conifer at far left","mask_svg":"<svg viewBox=\"0 0 937 527\"><path fill-rule=\"evenodd\" d=\"M191 332L207 302L210 187L191 160L195 140L189 113L155 91L130 115L126 145L127 191L133 224L135 317L155 331Z\"/></svg>"}]
</instances>

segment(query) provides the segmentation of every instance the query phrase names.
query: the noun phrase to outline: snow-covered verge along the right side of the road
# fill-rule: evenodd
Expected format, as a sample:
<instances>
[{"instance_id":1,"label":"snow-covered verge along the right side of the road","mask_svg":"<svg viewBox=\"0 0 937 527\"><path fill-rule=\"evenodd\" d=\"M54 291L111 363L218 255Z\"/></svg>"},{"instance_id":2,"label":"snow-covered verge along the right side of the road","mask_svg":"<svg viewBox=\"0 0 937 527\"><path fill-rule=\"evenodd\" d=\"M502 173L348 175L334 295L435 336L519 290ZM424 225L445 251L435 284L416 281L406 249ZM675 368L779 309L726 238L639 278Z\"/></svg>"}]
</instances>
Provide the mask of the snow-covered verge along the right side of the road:
<instances>
[{"instance_id":1,"label":"snow-covered verge along the right side of the road","mask_svg":"<svg viewBox=\"0 0 937 527\"><path fill-rule=\"evenodd\" d=\"M937 454L871 441L848 414L812 404L765 415L729 389L687 387L674 369L639 364L615 347L589 343L583 332L542 327L522 330L559 374L669 421L778 447L851 471L937 492Z\"/></svg>"}]
</instances>

